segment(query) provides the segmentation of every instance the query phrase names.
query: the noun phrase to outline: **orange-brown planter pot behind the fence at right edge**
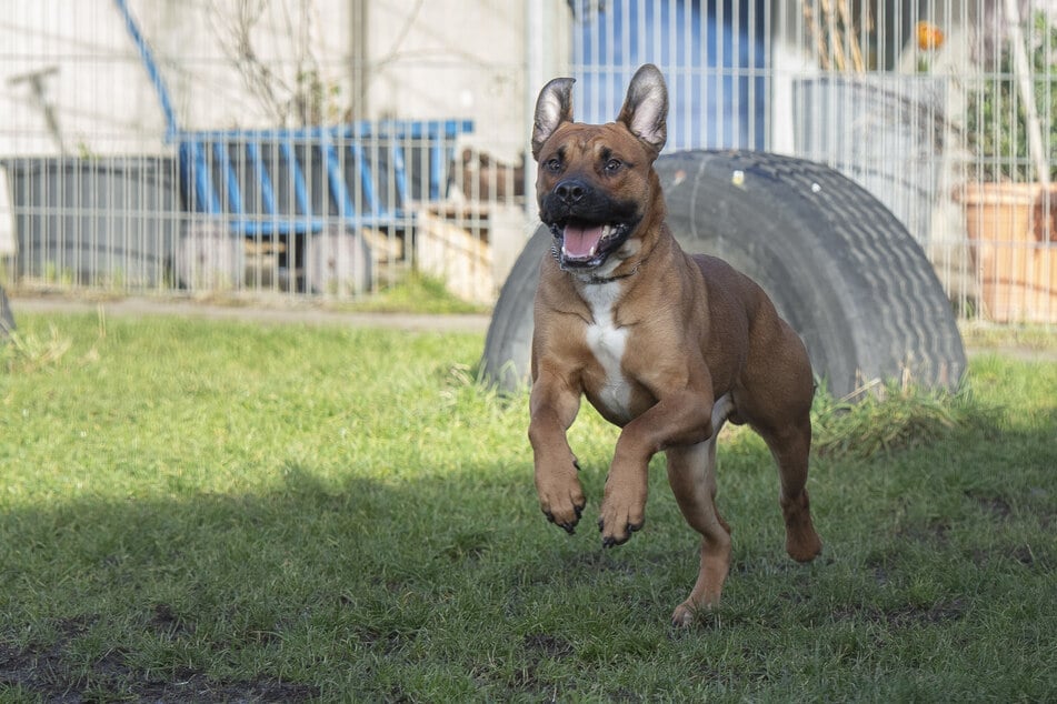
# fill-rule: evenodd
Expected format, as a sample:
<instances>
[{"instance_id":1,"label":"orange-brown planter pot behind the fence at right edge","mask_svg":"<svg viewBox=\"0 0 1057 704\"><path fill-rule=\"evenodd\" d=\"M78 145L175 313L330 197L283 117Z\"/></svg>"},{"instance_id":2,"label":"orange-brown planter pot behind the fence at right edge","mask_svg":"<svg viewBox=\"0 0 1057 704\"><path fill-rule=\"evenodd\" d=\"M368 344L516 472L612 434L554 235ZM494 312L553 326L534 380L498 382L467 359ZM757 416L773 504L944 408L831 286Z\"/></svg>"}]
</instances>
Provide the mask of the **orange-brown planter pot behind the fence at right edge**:
<instances>
[{"instance_id":1,"label":"orange-brown planter pot behind the fence at right edge","mask_svg":"<svg viewBox=\"0 0 1057 704\"><path fill-rule=\"evenodd\" d=\"M970 183L958 200L984 314L996 322L1057 323L1057 188Z\"/></svg>"}]
</instances>

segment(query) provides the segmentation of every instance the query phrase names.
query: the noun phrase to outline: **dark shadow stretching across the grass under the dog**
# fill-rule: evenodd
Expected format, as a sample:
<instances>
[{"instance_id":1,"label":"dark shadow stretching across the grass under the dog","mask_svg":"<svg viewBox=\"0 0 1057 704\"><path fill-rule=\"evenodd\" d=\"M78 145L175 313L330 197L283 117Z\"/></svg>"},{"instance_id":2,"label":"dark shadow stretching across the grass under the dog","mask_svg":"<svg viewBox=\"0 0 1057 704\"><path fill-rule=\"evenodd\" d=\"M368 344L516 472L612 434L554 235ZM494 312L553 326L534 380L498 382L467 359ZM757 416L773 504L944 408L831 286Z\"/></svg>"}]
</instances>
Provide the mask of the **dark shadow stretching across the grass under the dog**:
<instances>
[{"instance_id":1,"label":"dark shadow stretching across the grass under the dog","mask_svg":"<svg viewBox=\"0 0 1057 704\"><path fill-rule=\"evenodd\" d=\"M825 651L815 627L849 623L885 643L934 628L997 637L985 635L1003 630L994 600L1035 599L1004 594L1057 567L1057 550L1043 541L1057 516L1057 454L1045 430L1006 434L1000 445L955 439L826 473L831 485L816 485L816 506L846 505L824 511L827 553L811 571L778 554L769 459L734 459L724 472L746 471L742 460L759 465L752 471L771 491L762 507L759 496L725 495L720 477L737 516L732 606L676 638L661 624L696 569L694 537L670 496L651 503L646 530L612 556L589 526L589 539L557 536L523 467L331 482L289 465L260 495L12 511L0 517L0 691L60 702L400 700L436 695L421 681L439 678L451 696L481 686L489 696L550 696L586 687L622 658L705 658L716 647L708 638L741 653L726 671L715 665L727 684L740 667L755 673L755 687L769 678L780 687L788 682L772 663L742 662L752 643L760 657L798 638L805 653L809 644ZM651 492L667 494L656 474ZM588 477L594 501L602 479ZM975 591L964 589L970 583ZM1020 604L1024 617L1037 618L1043 601ZM989 620L967 632L981 610ZM838 666L852 680L898 666L861 657L861 672ZM707 686L680 690L691 691Z\"/></svg>"}]
</instances>

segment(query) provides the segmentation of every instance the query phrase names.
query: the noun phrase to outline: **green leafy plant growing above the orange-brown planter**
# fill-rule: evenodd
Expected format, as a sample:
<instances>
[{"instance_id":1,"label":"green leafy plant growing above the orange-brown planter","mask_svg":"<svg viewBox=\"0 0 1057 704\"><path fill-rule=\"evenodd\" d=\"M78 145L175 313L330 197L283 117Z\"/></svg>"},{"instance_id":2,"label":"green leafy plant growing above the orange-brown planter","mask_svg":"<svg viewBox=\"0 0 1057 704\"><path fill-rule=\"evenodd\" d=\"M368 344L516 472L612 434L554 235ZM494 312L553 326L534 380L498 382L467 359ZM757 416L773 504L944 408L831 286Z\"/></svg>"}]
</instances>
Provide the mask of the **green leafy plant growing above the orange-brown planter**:
<instances>
[{"instance_id":1,"label":"green leafy plant growing above the orange-brown planter","mask_svg":"<svg viewBox=\"0 0 1057 704\"><path fill-rule=\"evenodd\" d=\"M1057 26L1036 12L1025 28L1030 81L1047 151L1050 180L1057 180ZM1001 46L994 73L969 94L966 113L969 147L989 181L1038 179L1028 150L1028 115L1015 69L1014 48Z\"/></svg>"}]
</instances>

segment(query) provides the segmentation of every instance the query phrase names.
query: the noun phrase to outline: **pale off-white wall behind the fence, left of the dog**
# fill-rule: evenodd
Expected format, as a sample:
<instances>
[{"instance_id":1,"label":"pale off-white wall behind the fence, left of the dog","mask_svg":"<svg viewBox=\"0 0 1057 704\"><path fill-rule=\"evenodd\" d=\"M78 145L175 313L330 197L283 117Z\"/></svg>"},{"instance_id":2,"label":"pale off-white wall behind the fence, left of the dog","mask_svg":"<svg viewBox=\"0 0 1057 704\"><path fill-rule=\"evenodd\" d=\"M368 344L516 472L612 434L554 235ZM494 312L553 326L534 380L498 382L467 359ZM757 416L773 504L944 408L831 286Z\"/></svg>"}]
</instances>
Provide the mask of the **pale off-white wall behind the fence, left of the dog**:
<instances>
[{"instance_id":1,"label":"pale off-white wall behind the fence, left of the dog","mask_svg":"<svg viewBox=\"0 0 1057 704\"><path fill-rule=\"evenodd\" d=\"M298 74L310 73L325 99L309 122L470 118L482 145L515 157L528 125L523 1L365 0L366 29L357 26L356 1L272 0L253 21L238 16L243 3L223 0L129 7L181 128L299 124ZM560 28L548 39L567 48L567 6L544 1ZM51 71L43 98L68 153L170 149L158 95L111 0L0 0L0 158L59 152L40 98L28 82L11 82L40 70ZM237 56L243 28L256 62ZM365 38L366 47L353 46ZM358 56L369 60L366 72L353 70ZM261 71L270 91L253 89ZM366 104L353 99L358 76Z\"/></svg>"}]
</instances>

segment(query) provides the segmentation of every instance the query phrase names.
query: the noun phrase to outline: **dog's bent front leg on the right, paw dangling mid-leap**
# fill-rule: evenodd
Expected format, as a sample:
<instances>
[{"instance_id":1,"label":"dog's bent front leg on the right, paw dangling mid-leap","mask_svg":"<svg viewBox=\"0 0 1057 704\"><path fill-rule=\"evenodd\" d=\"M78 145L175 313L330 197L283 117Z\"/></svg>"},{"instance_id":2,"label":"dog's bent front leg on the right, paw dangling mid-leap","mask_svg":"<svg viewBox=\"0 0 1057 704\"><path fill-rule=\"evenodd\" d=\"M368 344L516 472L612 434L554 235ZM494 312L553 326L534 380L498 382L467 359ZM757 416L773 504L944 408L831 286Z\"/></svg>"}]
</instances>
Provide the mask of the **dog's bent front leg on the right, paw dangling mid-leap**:
<instances>
[{"instance_id":1,"label":"dog's bent front leg on the right, paw dangling mid-leap","mask_svg":"<svg viewBox=\"0 0 1057 704\"><path fill-rule=\"evenodd\" d=\"M694 445L712 435L711 393L682 389L625 425L602 499L598 530L602 545L626 543L646 520L648 465L657 452Z\"/></svg>"}]
</instances>

